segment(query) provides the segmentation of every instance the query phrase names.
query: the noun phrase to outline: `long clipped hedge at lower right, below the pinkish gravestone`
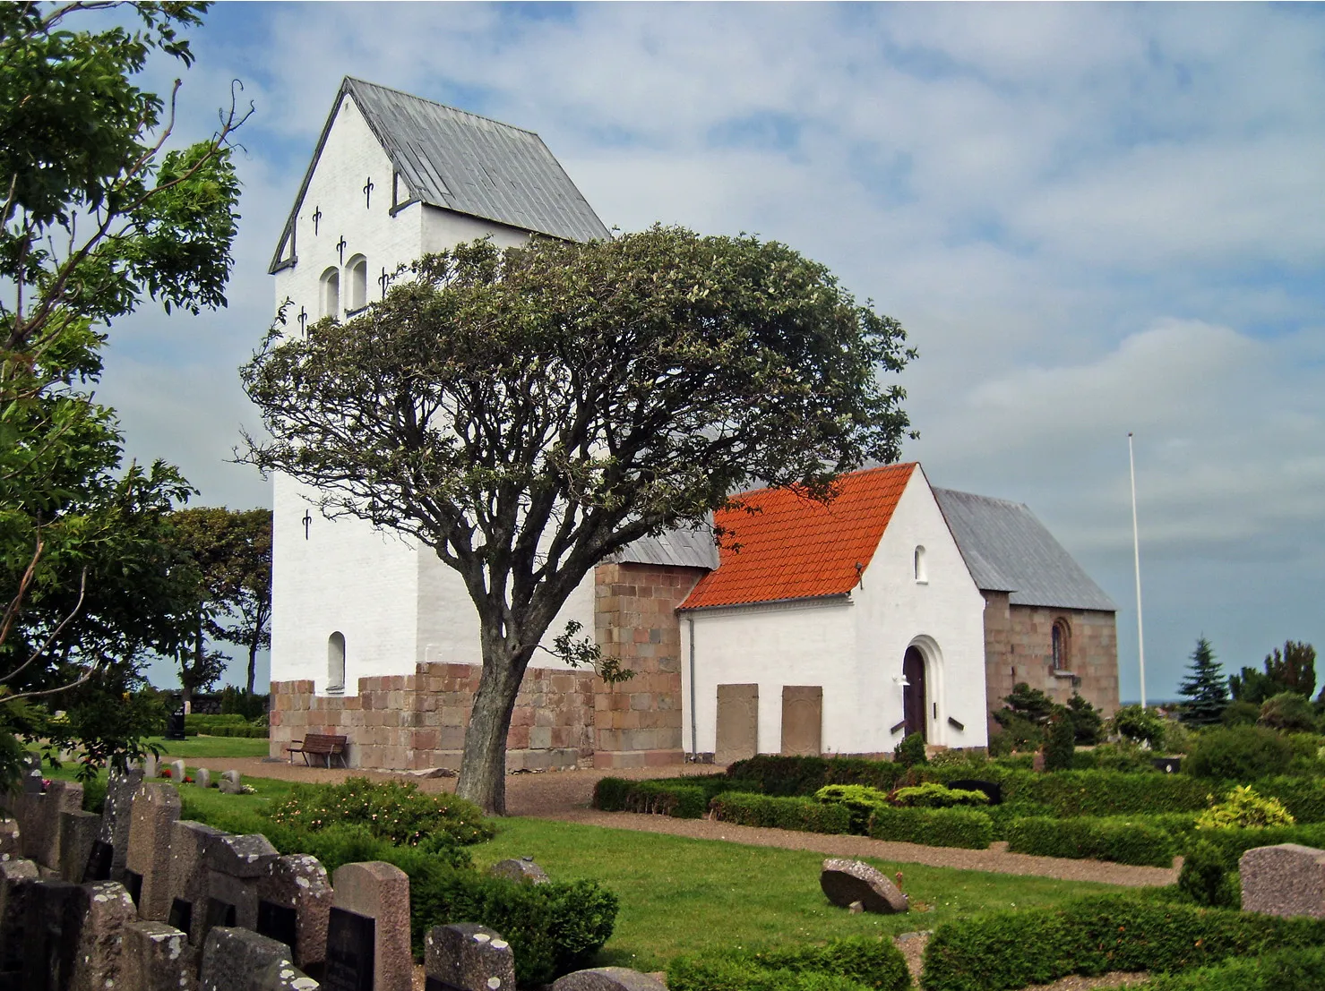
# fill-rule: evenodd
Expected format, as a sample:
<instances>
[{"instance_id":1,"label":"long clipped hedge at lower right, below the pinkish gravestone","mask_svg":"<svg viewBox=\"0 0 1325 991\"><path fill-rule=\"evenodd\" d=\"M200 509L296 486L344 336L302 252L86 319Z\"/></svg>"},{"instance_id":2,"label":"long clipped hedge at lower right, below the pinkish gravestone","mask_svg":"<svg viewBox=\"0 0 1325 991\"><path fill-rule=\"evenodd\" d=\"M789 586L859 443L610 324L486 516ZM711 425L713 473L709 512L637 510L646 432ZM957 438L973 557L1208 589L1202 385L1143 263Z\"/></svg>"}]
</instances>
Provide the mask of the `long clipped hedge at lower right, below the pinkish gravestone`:
<instances>
[{"instance_id":1,"label":"long clipped hedge at lower right, below the pinkish gravestone","mask_svg":"<svg viewBox=\"0 0 1325 991\"><path fill-rule=\"evenodd\" d=\"M1108 894L1053 909L941 925L925 947L925 991L1008 991L1069 974L1185 971L1232 957L1325 943L1325 921ZM1204 986L1208 987L1208 986Z\"/></svg>"}]
</instances>

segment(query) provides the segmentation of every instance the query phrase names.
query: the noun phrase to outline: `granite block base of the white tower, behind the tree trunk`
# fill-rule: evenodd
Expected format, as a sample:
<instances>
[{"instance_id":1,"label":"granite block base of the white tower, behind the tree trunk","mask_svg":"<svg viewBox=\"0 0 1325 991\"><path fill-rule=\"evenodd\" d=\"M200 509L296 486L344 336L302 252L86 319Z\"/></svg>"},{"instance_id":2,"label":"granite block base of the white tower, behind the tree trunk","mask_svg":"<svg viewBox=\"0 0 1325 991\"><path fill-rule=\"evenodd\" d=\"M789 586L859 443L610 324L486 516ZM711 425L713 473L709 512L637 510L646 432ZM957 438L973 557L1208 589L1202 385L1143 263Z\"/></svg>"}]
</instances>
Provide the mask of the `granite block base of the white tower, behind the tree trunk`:
<instances>
[{"instance_id":1,"label":"granite block base of the white tower, behind the tree trunk","mask_svg":"<svg viewBox=\"0 0 1325 991\"><path fill-rule=\"evenodd\" d=\"M318 696L311 681L272 682L270 755L309 733L348 737L351 767L458 767L478 690L478 665L416 665L408 676L359 678L358 696ZM592 756L591 673L530 668L515 697L506 766L574 767Z\"/></svg>"}]
</instances>

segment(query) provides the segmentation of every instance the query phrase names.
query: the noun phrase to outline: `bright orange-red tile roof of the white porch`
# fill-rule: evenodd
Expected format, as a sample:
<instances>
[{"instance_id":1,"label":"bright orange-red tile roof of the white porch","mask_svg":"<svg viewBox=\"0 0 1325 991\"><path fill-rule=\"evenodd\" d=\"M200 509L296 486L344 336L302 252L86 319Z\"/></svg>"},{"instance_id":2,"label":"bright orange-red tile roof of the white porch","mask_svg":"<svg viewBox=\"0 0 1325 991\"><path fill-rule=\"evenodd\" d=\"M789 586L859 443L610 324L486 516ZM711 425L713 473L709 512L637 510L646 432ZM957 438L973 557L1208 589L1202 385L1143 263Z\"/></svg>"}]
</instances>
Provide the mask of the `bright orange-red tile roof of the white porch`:
<instances>
[{"instance_id":1,"label":"bright orange-red tile roof of the white porch","mask_svg":"<svg viewBox=\"0 0 1325 991\"><path fill-rule=\"evenodd\" d=\"M714 522L727 531L721 564L700 580L681 608L849 592L860 582L860 571L869 567L914 469L916 462L910 462L845 474L828 505L791 489L743 493L741 502L761 511L714 514Z\"/></svg>"}]
</instances>

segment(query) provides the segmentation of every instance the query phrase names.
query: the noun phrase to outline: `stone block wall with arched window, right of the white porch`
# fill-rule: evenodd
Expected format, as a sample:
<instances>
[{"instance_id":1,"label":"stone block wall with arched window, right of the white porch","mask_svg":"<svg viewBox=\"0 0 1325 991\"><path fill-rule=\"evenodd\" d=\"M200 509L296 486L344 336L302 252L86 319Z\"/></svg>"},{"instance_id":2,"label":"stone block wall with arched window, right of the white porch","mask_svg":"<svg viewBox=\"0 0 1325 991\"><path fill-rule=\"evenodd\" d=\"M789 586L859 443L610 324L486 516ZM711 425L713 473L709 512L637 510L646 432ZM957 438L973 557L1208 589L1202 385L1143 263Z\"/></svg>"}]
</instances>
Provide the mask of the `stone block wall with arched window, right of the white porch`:
<instances>
[{"instance_id":1,"label":"stone block wall with arched window, right of the white porch","mask_svg":"<svg viewBox=\"0 0 1325 991\"><path fill-rule=\"evenodd\" d=\"M1118 633L1112 612L1010 605L1007 592L984 592L984 686L990 710L1024 681L1057 702L1073 689L1108 718L1118 707ZM1053 670L1053 624L1068 624L1068 669ZM1067 677L1067 673L1076 676ZM991 731L995 729L990 721Z\"/></svg>"}]
</instances>

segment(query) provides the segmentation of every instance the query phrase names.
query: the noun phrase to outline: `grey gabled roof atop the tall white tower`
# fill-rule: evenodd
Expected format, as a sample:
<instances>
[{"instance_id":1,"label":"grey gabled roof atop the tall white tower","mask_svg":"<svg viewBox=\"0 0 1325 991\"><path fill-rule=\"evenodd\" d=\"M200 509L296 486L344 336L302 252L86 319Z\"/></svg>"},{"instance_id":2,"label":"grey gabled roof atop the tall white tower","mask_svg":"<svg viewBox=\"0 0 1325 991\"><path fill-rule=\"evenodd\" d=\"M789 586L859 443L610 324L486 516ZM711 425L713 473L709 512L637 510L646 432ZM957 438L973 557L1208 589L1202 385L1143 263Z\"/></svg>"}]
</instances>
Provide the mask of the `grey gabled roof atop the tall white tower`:
<instances>
[{"instance_id":1,"label":"grey gabled roof atop the tall white tower","mask_svg":"<svg viewBox=\"0 0 1325 991\"><path fill-rule=\"evenodd\" d=\"M382 142L411 199L568 241L611 236L533 131L347 76L272 260L273 272L346 95Z\"/></svg>"}]
</instances>

